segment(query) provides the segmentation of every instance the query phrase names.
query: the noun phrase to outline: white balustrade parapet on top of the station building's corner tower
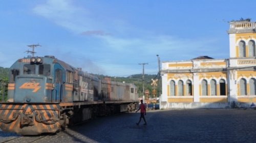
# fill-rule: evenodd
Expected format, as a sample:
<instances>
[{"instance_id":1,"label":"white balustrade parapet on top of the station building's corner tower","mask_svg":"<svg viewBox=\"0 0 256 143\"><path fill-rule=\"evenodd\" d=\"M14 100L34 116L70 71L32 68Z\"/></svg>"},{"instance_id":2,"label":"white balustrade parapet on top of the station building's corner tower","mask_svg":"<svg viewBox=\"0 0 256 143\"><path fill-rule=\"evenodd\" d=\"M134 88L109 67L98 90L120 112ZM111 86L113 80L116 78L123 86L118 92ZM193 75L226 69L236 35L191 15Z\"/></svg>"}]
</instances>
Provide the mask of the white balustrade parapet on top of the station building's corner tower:
<instances>
[{"instance_id":1,"label":"white balustrade parapet on top of the station building's corner tower","mask_svg":"<svg viewBox=\"0 0 256 143\"><path fill-rule=\"evenodd\" d=\"M232 33L247 33L247 32L255 32L256 31L256 22L251 22L250 19L242 19L237 21L229 22L229 30L228 34Z\"/></svg>"}]
</instances>

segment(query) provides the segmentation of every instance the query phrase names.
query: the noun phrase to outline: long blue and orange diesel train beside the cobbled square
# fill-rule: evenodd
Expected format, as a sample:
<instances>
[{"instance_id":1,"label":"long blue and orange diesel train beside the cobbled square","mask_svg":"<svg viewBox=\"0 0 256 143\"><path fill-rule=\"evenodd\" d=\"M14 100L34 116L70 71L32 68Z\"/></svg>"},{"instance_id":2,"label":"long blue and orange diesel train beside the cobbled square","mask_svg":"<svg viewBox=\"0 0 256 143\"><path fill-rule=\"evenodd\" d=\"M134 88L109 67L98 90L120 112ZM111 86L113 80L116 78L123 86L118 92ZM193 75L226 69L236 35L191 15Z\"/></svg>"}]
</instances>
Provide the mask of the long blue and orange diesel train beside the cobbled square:
<instances>
[{"instance_id":1,"label":"long blue and orange diesel train beside the cobbled square","mask_svg":"<svg viewBox=\"0 0 256 143\"><path fill-rule=\"evenodd\" d=\"M134 111L134 84L100 80L54 56L27 57L9 69L0 127L23 135L55 133L95 116Z\"/></svg>"}]
</instances>

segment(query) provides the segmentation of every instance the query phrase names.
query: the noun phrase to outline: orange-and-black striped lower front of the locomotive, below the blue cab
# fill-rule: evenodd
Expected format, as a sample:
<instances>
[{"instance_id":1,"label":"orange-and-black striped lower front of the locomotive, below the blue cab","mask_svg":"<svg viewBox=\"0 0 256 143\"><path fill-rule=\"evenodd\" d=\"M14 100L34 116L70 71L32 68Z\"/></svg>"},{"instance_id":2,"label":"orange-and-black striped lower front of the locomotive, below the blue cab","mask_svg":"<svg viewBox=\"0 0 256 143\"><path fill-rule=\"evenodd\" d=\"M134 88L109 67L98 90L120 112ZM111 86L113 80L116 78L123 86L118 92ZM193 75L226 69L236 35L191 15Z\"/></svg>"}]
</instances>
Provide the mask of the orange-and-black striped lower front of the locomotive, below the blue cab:
<instances>
[{"instance_id":1,"label":"orange-and-black striped lower front of the locomotive, below the blue cab","mask_svg":"<svg viewBox=\"0 0 256 143\"><path fill-rule=\"evenodd\" d=\"M60 129L58 104L0 104L0 127L18 134L41 134Z\"/></svg>"}]
</instances>

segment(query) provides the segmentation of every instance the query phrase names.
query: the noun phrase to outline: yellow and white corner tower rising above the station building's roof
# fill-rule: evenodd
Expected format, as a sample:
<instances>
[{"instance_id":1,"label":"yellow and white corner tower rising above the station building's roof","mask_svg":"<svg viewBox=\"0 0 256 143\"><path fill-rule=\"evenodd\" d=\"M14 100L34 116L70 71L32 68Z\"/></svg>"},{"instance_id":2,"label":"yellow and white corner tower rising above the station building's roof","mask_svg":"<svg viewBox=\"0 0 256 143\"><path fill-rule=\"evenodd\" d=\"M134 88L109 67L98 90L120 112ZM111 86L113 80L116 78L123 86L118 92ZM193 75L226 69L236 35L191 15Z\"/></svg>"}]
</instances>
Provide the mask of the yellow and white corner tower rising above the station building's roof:
<instances>
[{"instance_id":1,"label":"yellow and white corner tower rising above the station building's roof","mask_svg":"<svg viewBox=\"0 0 256 143\"><path fill-rule=\"evenodd\" d=\"M256 22L242 19L229 22L230 58L255 57Z\"/></svg>"}]
</instances>

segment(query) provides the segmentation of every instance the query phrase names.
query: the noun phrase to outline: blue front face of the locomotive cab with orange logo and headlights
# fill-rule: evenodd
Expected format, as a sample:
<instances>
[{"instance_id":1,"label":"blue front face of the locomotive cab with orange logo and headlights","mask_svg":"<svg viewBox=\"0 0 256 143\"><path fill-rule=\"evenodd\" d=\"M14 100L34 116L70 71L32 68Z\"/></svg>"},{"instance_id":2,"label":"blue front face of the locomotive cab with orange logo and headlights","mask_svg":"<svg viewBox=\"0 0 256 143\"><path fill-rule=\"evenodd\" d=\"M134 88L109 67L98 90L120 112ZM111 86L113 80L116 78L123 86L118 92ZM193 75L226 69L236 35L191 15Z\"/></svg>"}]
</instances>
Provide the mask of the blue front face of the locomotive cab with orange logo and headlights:
<instances>
[{"instance_id":1,"label":"blue front face of the locomotive cab with orange logo and headlights","mask_svg":"<svg viewBox=\"0 0 256 143\"><path fill-rule=\"evenodd\" d=\"M19 59L10 67L8 102L51 102L53 97L52 60L43 57Z\"/></svg>"}]
</instances>

